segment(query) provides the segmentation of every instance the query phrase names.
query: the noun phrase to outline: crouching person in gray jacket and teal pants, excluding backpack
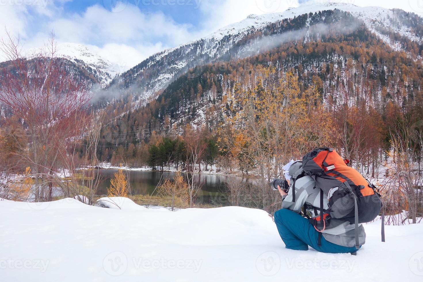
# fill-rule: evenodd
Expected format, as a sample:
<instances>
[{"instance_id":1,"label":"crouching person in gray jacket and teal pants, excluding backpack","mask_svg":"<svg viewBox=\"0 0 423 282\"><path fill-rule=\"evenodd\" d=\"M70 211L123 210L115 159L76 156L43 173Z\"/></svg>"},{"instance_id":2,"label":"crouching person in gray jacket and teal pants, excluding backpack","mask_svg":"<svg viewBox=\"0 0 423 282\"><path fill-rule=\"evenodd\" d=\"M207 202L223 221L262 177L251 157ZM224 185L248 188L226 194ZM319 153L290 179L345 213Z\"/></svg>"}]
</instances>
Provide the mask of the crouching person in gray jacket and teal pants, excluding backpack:
<instances>
[{"instance_id":1,"label":"crouching person in gray jacket and teal pants, excluding backpack","mask_svg":"<svg viewBox=\"0 0 423 282\"><path fill-rule=\"evenodd\" d=\"M320 194L323 193L321 189L316 189L316 182L312 177L305 175L297 178L297 175L302 172L302 162L287 164L286 167L289 167L289 169L285 168L288 170L286 176L290 179L297 179L295 181L295 200L293 201L292 183L290 183L289 191L286 192L283 187L281 188L283 182L280 180L273 182L282 195L282 209L275 212L275 223L286 248L308 250L308 246L311 246L319 252L326 253L357 252L354 224L332 218L319 230L310 223L310 218L313 220L320 216L321 206L324 209L330 209L327 196ZM286 180L289 183L288 178ZM307 218L301 216L302 208L303 214ZM361 247L365 243L365 232L361 224L358 227L358 234Z\"/></svg>"}]
</instances>

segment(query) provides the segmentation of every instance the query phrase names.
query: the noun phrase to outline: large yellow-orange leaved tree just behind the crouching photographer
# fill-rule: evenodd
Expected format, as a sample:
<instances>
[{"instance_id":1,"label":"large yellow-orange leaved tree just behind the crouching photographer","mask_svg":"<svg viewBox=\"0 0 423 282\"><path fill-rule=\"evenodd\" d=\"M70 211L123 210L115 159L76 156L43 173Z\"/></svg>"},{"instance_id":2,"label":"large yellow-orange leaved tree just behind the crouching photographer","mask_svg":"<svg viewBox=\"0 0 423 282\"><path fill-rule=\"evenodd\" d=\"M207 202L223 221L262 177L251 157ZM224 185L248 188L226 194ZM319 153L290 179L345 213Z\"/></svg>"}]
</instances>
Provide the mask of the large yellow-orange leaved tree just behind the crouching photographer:
<instances>
[{"instance_id":1,"label":"large yellow-orange leaved tree just behind the crouching photographer","mask_svg":"<svg viewBox=\"0 0 423 282\"><path fill-rule=\"evenodd\" d=\"M268 182L282 177L283 164L330 142L332 120L316 83L302 88L291 72L257 67L228 95L233 114L219 132L222 151L260 187L262 208L275 200Z\"/></svg>"}]
</instances>

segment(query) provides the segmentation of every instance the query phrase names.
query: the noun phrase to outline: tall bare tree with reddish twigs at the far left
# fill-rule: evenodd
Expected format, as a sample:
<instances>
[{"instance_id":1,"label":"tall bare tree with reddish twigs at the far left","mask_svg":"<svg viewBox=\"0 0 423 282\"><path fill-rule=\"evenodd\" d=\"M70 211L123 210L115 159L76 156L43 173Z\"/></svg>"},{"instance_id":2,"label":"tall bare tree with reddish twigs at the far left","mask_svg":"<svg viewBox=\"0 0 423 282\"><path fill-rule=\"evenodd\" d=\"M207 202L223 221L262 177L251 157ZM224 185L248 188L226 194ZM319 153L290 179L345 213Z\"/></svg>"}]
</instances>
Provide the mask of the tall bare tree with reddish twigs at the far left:
<instances>
[{"instance_id":1,"label":"tall bare tree with reddish twigs at the far left","mask_svg":"<svg viewBox=\"0 0 423 282\"><path fill-rule=\"evenodd\" d=\"M8 62L0 69L0 104L10 110L6 123L14 116L22 122L28 140L28 150L20 156L31 168L35 178L36 201L51 200L52 182L63 164L67 145L79 137L82 127L75 120L88 118L86 106L90 94L70 73L66 61L55 56L54 34L45 49L33 59L20 54L19 38L8 34L0 49Z\"/></svg>"}]
</instances>

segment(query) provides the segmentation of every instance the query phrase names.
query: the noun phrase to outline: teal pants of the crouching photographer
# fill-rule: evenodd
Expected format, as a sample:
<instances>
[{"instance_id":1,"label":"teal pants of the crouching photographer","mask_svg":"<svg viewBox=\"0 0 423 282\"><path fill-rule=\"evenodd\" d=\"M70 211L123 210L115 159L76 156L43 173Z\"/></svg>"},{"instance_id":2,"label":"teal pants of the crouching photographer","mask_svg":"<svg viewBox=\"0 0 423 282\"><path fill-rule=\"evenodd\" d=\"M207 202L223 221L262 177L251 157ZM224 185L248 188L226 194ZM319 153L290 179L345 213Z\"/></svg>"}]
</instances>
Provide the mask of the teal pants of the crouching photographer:
<instances>
[{"instance_id":1,"label":"teal pants of the crouching photographer","mask_svg":"<svg viewBox=\"0 0 423 282\"><path fill-rule=\"evenodd\" d=\"M319 232L301 215L286 208L275 212L275 223L280 238L287 249L308 250L308 246L324 253L354 253L355 247L333 244L321 236L321 245L317 243Z\"/></svg>"}]
</instances>

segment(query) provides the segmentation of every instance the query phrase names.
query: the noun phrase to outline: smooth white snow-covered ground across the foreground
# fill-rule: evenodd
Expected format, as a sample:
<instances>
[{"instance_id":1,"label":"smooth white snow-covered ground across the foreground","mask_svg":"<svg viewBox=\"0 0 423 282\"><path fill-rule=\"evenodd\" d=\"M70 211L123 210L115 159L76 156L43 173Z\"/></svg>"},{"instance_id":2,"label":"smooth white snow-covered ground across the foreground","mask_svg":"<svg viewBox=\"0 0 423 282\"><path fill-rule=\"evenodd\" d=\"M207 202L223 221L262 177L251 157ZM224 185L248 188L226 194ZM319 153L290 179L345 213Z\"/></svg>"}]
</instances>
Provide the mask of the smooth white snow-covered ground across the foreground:
<instances>
[{"instance_id":1,"label":"smooth white snow-covered ground across the foreground","mask_svg":"<svg viewBox=\"0 0 423 282\"><path fill-rule=\"evenodd\" d=\"M422 281L423 225L365 226L357 256L285 248L265 211L0 201L1 281Z\"/></svg>"}]
</instances>

